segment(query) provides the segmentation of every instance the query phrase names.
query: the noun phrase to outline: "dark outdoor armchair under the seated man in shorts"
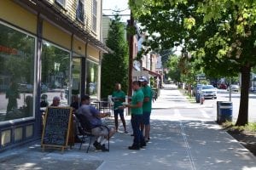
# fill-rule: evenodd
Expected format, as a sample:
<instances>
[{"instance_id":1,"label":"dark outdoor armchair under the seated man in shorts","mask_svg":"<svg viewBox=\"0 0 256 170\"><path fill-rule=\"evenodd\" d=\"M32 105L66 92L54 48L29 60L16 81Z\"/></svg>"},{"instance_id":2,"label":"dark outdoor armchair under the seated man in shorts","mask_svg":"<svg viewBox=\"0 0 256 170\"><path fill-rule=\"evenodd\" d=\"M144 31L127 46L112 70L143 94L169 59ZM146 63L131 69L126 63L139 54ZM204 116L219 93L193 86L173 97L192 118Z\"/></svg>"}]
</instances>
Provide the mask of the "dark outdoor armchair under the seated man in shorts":
<instances>
[{"instance_id":1,"label":"dark outdoor armchair under the seated man in shorts","mask_svg":"<svg viewBox=\"0 0 256 170\"><path fill-rule=\"evenodd\" d=\"M77 117L79 119L79 124L80 124L79 131L83 135L83 137L81 139L79 150L81 150L82 144L85 143L85 139L89 138L90 141L89 141L89 145L88 145L87 150L86 150L86 153L88 153L88 151L90 149L91 140L92 140L92 138L95 137L95 135L93 135L91 133L92 128L90 126L90 122L87 119L87 117L84 116L83 114L78 114ZM101 127L107 127L107 126L102 125ZM109 128L107 127L107 129L108 129L108 151L109 151Z\"/></svg>"}]
</instances>

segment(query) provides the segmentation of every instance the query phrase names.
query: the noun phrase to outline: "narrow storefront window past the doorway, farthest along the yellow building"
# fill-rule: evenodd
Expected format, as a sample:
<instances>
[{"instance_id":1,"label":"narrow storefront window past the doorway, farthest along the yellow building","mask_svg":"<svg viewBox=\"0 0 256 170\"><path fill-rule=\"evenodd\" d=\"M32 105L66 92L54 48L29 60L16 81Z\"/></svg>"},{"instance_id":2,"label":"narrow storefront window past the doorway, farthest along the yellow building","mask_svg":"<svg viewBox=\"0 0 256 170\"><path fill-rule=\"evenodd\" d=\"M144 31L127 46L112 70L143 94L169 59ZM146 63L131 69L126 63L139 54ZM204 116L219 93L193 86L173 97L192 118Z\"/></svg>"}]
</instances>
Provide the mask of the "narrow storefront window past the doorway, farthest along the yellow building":
<instances>
[{"instance_id":1,"label":"narrow storefront window past the doorway, farthest along the yellow building","mask_svg":"<svg viewBox=\"0 0 256 170\"><path fill-rule=\"evenodd\" d=\"M86 94L96 99L98 94L98 65L90 60L86 61Z\"/></svg>"}]
</instances>

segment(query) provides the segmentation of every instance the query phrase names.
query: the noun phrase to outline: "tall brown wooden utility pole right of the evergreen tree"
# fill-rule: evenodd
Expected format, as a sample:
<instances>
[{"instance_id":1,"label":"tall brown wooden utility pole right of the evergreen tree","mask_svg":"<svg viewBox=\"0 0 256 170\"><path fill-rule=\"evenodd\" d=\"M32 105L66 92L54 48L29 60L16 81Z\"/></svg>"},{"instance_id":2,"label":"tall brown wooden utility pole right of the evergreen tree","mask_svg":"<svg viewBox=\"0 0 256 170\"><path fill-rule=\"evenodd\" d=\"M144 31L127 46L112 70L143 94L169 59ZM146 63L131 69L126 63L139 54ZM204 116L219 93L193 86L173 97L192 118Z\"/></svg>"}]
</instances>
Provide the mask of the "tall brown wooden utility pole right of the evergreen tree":
<instances>
[{"instance_id":1,"label":"tall brown wooden utility pole right of the evergreen tree","mask_svg":"<svg viewBox=\"0 0 256 170\"><path fill-rule=\"evenodd\" d=\"M131 19L129 22L129 69L128 69L128 96L131 97L132 94L132 67L133 67L133 30L134 30L134 19L131 13Z\"/></svg>"}]
</instances>

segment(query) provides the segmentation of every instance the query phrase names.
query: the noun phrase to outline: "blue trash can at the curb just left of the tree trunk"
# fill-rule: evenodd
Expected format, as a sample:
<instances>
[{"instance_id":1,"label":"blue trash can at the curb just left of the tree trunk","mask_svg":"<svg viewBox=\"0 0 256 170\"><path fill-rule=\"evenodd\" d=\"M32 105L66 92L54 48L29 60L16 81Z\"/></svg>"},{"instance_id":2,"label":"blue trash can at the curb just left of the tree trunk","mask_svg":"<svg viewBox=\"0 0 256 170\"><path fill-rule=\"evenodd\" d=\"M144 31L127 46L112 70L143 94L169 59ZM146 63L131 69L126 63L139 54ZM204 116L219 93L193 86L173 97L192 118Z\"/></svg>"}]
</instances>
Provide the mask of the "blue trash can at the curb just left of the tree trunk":
<instances>
[{"instance_id":1,"label":"blue trash can at the curb just left of the tree trunk","mask_svg":"<svg viewBox=\"0 0 256 170\"><path fill-rule=\"evenodd\" d=\"M217 122L221 124L223 122L232 121L233 105L229 101L217 102Z\"/></svg>"}]
</instances>

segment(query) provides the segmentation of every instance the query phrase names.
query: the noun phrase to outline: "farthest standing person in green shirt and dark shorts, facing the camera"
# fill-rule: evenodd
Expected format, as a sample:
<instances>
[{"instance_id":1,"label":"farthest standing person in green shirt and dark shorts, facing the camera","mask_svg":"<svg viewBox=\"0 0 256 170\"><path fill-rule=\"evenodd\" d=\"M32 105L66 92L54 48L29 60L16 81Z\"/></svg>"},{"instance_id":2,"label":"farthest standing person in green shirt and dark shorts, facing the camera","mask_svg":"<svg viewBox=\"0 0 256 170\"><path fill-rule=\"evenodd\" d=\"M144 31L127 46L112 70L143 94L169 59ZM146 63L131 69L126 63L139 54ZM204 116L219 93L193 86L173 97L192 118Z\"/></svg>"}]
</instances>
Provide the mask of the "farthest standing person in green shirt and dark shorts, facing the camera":
<instances>
[{"instance_id":1,"label":"farthest standing person in green shirt and dark shorts, facing the camera","mask_svg":"<svg viewBox=\"0 0 256 170\"><path fill-rule=\"evenodd\" d=\"M125 101L125 92L121 90L121 84L115 84L115 91L112 94L113 99L113 115L114 115L114 124L116 132L119 129L119 116L121 121L123 122L123 126L125 129L125 133L128 133L126 130L125 116L124 116L124 108L119 108L122 106L122 102Z\"/></svg>"}]
</instances>

